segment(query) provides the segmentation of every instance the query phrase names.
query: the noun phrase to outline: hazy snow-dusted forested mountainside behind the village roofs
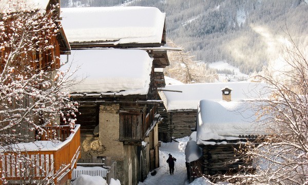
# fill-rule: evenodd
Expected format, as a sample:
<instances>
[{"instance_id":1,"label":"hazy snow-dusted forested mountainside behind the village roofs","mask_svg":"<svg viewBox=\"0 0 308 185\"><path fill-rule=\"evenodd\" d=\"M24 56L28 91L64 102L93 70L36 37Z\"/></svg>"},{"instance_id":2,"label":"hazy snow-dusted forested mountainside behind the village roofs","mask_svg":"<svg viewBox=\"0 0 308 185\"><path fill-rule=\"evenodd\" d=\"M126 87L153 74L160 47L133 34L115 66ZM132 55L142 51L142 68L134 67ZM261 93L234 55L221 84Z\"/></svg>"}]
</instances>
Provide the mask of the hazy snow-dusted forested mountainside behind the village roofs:
<instances>
[{"instance_id":1,"label":"hazy snow-dusted forested mountainside behind the village roofs","mask_svg":"<svg viewBox=\"0 0 308 185\"><path fill-rule=\"evenodd\" d=\"M167 38L196 61L225 61L249 74L279 58L286 28L308 45L308 0L62 0L62 7L153 6L166 12ZM111 17L110 17L111 18Z\"/></svg>"}]
</instances>

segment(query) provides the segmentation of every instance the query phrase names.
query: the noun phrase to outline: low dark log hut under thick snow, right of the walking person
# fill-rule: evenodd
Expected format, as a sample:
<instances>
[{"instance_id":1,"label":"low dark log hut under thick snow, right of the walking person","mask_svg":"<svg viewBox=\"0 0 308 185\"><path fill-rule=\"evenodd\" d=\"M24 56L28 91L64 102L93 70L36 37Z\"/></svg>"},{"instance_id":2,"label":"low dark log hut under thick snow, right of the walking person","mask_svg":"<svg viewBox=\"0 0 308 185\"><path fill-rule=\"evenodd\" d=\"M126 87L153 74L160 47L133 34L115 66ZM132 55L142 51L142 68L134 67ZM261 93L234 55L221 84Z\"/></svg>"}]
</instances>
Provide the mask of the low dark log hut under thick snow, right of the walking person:
<instances>
[{"instance_id":1,"label":"low dark log hut under thick snow, right of the walking person","mask_svg":"<svg viewBox=\"0 0 308 185\"><path fill-rule=\"evenodd\" d=\"M237 173L247 164L239 152L245 147L243 143L255 142L256 136L265 134L262 118L256 122L257 104L251 101L200 101L197 132L187 143L190 149L185 150L189 181L202 175Z\"/></svg>"}]
</instances>

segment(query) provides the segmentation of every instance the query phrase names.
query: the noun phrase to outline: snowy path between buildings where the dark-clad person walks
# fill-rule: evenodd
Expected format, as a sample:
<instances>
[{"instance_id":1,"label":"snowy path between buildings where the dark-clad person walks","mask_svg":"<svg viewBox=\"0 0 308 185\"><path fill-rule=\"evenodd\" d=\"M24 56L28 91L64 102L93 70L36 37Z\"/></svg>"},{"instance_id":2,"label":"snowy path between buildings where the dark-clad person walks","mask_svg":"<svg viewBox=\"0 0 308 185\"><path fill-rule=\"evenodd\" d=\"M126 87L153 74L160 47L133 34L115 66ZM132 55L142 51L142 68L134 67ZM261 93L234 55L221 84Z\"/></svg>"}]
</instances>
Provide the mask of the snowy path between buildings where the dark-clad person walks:
<instances>
[{"instance_id":1,"label":"snowy path between buildings where the dark-clad person walks","mask_svg":"<svg viewBox=\"0 0 308 185\"><path fill-rule=\"evenodd\" d=\"M179 139L178 142L162 143L160 147L160 168L156 169L157 174L152 176L150 173L144 182L138 185L182 185L187 183L187 174L185 166L185 147L189 137ZM167 171L167 158L171 154L177 159L174 175Z\"/></svg>"}]
</instances>

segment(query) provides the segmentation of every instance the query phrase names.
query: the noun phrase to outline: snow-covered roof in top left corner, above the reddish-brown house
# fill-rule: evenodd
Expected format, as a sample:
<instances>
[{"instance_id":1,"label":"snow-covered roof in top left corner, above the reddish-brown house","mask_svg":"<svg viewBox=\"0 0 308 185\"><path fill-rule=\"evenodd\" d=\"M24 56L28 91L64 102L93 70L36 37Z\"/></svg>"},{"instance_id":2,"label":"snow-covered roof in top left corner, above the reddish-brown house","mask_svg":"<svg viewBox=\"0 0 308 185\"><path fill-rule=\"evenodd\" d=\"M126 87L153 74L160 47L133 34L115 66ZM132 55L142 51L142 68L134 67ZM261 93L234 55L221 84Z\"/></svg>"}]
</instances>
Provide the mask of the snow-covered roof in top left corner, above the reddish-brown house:
<instances>
[{"instance_id":1,"label":"snow-covered roof in top left corner, above the reddish-brown house","mask_svg":"<svg viewBox=\"0 0 308 185\"><path fill-rule=\"evenodd\" d=\"M2 12L16 12L20 10L46 10L49 0L1 0Z\"/></svg>"}]
</instances>

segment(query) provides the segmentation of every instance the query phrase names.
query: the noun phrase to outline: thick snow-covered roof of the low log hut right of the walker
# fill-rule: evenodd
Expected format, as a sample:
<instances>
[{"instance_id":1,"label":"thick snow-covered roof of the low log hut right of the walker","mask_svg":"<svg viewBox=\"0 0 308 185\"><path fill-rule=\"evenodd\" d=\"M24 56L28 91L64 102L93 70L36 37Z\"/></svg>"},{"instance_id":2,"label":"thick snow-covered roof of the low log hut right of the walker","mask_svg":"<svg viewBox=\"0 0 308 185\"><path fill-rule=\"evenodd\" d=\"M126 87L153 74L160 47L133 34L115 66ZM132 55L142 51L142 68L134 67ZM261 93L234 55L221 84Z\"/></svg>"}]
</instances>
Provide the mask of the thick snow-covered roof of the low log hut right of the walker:
<instances>
[{"instance_id":1,"label":"thick snow-covered roof of the low log hut right of the walker","mask_svg":"<svg viewBox=\"0 0 308 185\"><path fill-rule=\"evenodd\" d=\"M240 135L264 135L257 102L201 100L198 105L197 144L217 144L208 140L235 140ZM225 144L223 141L221 144Z\"/></svg>"}]
</instances>

